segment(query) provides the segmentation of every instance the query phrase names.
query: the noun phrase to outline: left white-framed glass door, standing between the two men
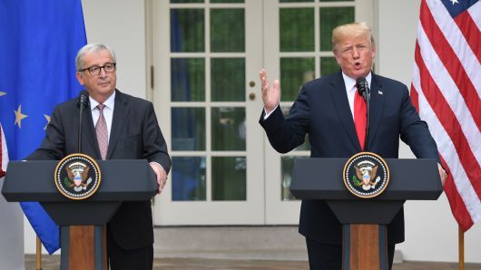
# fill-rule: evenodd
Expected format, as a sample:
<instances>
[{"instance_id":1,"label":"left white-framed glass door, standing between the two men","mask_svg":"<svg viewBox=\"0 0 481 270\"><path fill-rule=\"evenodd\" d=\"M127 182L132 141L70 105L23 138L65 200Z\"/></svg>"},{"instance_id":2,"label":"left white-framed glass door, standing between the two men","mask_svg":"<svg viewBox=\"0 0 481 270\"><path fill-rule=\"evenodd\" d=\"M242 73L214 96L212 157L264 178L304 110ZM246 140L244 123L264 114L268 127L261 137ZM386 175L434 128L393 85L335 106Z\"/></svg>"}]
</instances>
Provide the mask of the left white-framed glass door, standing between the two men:
<instances>
[{"instance_id":1,"label":"left white-framed glass door, standing between the two men","mask_svg":"<svg viewBox=\"0 0 481 270\"><path fill-rule=\"evenodd\" d=\"M153 1L153 101L172 154L156 225L264 224L257 0Z\"/></svg>"}]
</instances>

